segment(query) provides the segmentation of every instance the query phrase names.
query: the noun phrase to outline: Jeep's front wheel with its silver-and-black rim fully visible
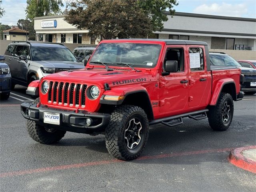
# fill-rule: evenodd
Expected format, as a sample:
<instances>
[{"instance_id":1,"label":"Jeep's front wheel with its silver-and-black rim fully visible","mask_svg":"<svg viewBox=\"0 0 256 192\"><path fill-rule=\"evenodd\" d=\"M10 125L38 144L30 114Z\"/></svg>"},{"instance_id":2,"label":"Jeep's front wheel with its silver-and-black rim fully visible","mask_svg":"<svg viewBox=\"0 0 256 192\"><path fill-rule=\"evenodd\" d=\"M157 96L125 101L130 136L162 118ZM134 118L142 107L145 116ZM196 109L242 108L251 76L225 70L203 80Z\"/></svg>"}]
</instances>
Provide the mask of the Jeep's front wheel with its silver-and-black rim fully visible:
<instances>
[{"instance_id":1,"label":"Jeep's front wheel with its silver-and-black rim fully visible","mask_svg":"<svg viewBox=\"0 0 256 192\"><path fill-rule=\"evenodd\" d=\"M148 129L148 118L142 108L119 106L112 112L105 130L108 152L120 160L138 158L146 146Z\"/></svg>"}]
</instances>

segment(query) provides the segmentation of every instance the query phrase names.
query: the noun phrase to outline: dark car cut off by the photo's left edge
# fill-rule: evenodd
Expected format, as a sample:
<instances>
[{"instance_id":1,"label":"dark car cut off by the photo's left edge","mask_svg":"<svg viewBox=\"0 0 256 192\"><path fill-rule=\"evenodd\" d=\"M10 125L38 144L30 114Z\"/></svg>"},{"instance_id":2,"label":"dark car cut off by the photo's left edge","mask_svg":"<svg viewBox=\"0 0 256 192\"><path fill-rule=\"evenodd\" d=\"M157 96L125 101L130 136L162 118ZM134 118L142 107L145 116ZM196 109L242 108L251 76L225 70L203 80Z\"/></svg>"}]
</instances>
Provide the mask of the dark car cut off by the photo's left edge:
<instances>
[{"instance_id":1,"label":"dark car cut off by the photo's left edge","mask_svg":"<svg viewBox=\"0 0 256 192\"><path fill-rule=\"evenodd\" d=\"M0 55L0 98L8 99L11 92L12 76L10 68L4 63L5 57Z\"/></svg>"}]
</instances>

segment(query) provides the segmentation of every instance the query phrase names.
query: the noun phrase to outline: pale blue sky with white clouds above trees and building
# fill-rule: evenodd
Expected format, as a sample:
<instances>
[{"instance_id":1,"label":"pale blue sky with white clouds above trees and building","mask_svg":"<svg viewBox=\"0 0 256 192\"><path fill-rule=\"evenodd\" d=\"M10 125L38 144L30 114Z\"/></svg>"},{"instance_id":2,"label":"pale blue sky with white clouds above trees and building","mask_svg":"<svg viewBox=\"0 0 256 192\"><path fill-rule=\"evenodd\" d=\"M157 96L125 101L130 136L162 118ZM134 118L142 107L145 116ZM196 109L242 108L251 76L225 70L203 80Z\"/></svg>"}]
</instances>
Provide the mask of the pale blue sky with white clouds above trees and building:
<instances>
[{"instance_id":1,"label":"pale blue sky with white clouds above trees and building","mask_svg":"<svg viewBox=\"0 0 256 192\"><path fill-rule=\"evenodd\" d=\"M256 18L256 0L178 0L176 12ZM26 18L26 0L3 0L5 15L2 24L16 25Z\"/></svg>"}]
</instances>

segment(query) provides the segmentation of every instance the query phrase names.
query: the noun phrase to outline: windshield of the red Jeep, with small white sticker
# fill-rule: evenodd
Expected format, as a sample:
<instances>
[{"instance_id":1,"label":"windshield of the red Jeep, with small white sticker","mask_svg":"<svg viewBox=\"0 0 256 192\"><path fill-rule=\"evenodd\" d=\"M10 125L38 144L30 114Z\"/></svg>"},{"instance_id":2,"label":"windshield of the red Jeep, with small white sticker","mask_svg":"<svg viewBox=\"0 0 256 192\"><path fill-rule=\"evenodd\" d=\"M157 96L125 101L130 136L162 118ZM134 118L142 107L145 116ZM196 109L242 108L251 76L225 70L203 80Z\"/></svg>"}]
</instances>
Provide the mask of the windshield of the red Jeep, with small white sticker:
<instances>
[{"instance_id":1,"label":"windshield of the red Jeep, with small white sticker","mask_svg":"<svg viewBox=\"0 0 256 192\"><path fill-rule=\"evenodd\" d=\"M159 44L102 43L94 52L90 62L103 62L112 66L121 63L132 67L153 68L158 61L160 50Z\"/></svg>"}]
</instances>

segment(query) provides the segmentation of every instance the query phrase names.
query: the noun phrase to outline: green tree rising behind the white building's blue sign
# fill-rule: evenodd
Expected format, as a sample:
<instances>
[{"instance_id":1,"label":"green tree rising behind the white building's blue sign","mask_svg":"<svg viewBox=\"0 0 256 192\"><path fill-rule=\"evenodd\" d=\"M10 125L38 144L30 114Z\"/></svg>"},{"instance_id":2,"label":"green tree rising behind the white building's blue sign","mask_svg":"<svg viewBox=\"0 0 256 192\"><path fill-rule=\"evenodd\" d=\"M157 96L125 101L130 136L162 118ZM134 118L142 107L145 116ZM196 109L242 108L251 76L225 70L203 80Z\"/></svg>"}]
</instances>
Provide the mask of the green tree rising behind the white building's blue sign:
<instances>
[{"instance_id":1,"label":"green tree rising behind the white building's blue sign","mask_svg":"<svg viewBox=\"0 0 256 192\"><path fill-rule=\"evenodd\" d=\"M35 17L61 14L62 0L27 0L26 17L33 20Z\"/></svg>"}]
</instances>

